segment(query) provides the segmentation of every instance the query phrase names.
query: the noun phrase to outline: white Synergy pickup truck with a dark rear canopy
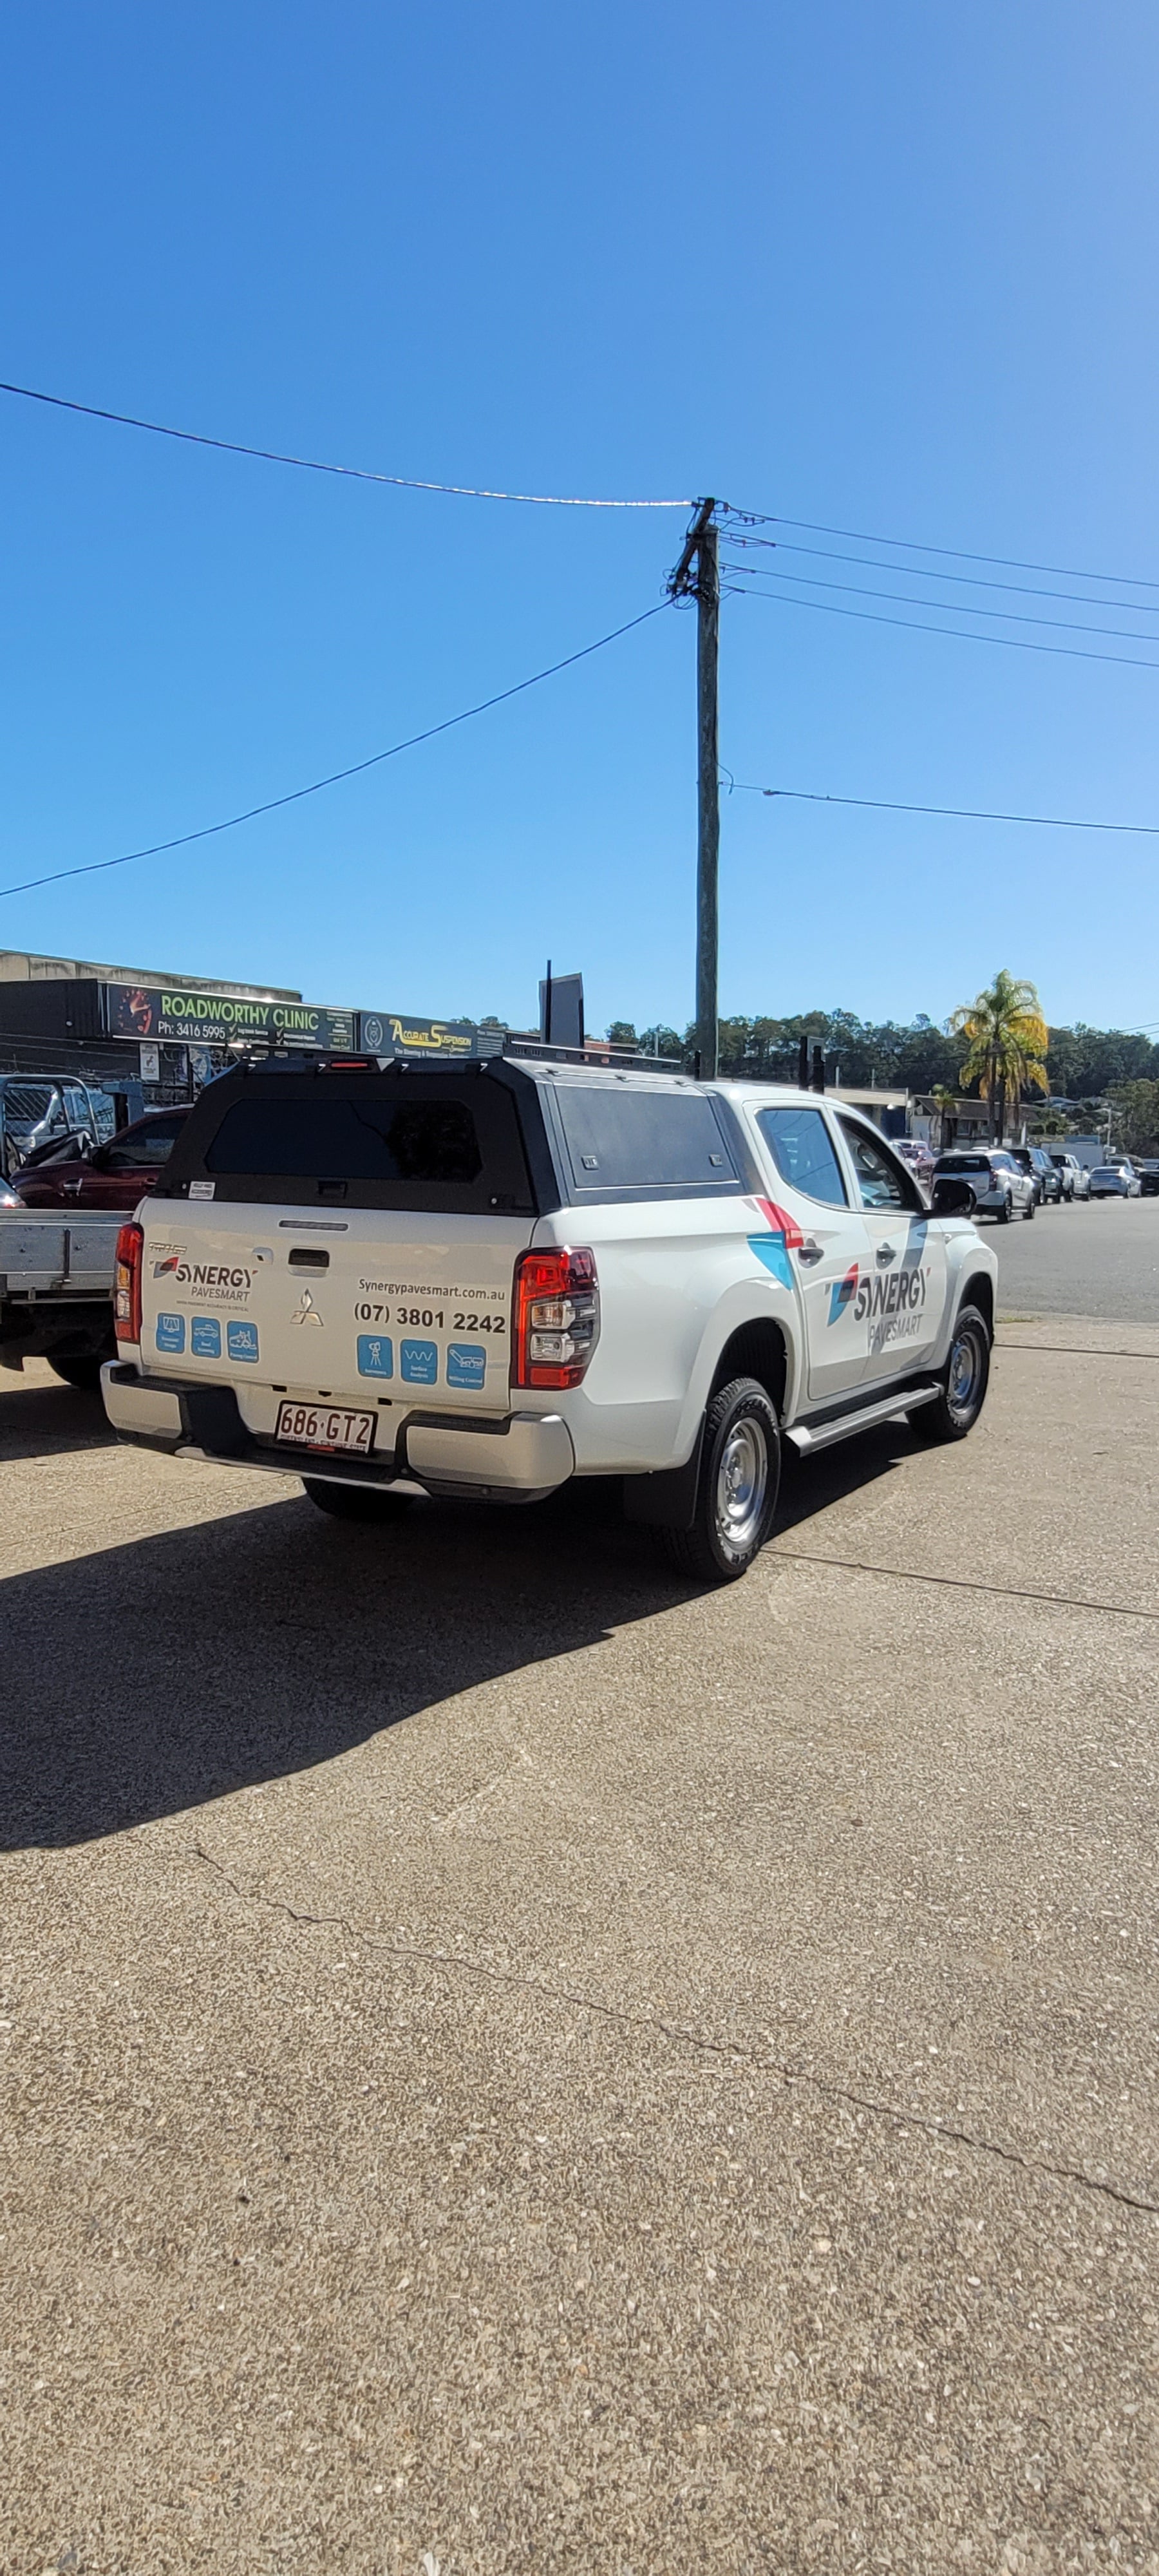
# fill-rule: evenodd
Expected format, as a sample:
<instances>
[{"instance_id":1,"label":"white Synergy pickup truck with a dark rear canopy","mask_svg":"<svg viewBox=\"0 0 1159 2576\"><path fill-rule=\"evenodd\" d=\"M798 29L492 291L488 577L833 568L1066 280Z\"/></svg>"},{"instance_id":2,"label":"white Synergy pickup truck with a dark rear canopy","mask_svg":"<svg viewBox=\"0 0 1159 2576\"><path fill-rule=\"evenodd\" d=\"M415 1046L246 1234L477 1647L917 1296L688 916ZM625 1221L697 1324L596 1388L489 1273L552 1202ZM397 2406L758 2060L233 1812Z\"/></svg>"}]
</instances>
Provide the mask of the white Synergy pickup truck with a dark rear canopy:
<instances>
[{"instance_id":1,"label":"white Synergy pickup truck with a dark rear canopy","mask_svg":"<svg viewBox=\"0 0 1159 2576\"><path fill-rule=\"evenodd\" d=\"M515 1054L240 1066L121 1231L106 1409L358 1520L621 1476L729 1582L783 1440L976 1422L997 1262L966 1206L814 1092Z\"/></svg>"}]
</instances>

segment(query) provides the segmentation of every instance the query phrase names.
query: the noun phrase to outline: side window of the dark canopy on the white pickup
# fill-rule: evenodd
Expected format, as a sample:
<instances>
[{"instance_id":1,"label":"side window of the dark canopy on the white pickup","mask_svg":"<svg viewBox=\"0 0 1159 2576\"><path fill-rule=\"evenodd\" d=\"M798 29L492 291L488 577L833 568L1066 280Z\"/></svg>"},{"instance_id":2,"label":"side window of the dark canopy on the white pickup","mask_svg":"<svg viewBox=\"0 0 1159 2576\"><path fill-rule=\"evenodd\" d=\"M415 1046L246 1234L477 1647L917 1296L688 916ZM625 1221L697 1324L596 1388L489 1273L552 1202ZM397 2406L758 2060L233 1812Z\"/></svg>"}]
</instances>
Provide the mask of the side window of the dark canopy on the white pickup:
<instances>
[{"instance_id":1,"label":"side window of the dark canopy on the white pickup","mask_svg":"<svg viewBox=\"0 0 1159 2576\"><path fill-rule=\"evenodd\" d=\"M706 1092L559 1082L556 1108L577 1198L739 1190L731 1144Z\"/></svg>"}]
</instances>

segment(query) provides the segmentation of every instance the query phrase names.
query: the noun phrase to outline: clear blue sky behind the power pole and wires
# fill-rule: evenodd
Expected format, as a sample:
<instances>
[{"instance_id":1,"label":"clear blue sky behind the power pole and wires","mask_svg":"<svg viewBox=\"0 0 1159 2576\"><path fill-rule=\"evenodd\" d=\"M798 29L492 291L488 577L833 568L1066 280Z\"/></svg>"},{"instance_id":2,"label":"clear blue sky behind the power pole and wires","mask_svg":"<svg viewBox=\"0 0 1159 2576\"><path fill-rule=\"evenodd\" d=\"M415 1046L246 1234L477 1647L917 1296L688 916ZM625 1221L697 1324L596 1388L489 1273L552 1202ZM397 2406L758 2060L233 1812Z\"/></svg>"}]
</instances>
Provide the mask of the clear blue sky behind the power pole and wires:
<instances>
[{"instance_id":1,"label":"clear blue sky behind the power pole and wires","mask_svg":"<svg viewBox=\"0 0 1159 2576\"><path fill-rule=\"evenodd\" d=\"M1136 0L23 0L0 374L399 474L716 492L1159 582L1156 67ZM10 399L0 459L5 884L510 685L649 608L685 526L391 495ZM1159 634L1120 598L1004 605ZM286 814L10 896L0 943L510 1020L551 953L590 1025L683 1023L693 667L664 613ZM739 781L1151 822L1156 714L1159 670L724 603ZM940 1018L1004 963L1053 1020L1138 1025L1156 933L1146 840L724 801L721 1010Z\"/></svg>"}]
</instances>

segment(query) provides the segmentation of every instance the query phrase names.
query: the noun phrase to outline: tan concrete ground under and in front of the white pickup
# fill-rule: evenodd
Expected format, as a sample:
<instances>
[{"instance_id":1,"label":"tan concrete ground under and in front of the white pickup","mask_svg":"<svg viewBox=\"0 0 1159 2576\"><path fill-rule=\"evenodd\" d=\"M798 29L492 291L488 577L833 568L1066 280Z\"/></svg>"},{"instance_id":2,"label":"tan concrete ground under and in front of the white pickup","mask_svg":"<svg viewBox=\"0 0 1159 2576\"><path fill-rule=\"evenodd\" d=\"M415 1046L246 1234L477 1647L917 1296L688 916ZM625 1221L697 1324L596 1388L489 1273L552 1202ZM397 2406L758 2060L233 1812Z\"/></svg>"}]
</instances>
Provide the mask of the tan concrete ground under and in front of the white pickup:
<instances>
[{"instance_id":1,"label":"tan concrete ground under and in front of the white pickup","mask_svg":"<svg viewBox=\"0 0 1159 2576\"><path fill-rule=\"evenodd\" d=\"M1154 2576L1156 1430L1012 1327L698 1595L13 1381L0 2566Z\"/></svg>"}]
</instances>

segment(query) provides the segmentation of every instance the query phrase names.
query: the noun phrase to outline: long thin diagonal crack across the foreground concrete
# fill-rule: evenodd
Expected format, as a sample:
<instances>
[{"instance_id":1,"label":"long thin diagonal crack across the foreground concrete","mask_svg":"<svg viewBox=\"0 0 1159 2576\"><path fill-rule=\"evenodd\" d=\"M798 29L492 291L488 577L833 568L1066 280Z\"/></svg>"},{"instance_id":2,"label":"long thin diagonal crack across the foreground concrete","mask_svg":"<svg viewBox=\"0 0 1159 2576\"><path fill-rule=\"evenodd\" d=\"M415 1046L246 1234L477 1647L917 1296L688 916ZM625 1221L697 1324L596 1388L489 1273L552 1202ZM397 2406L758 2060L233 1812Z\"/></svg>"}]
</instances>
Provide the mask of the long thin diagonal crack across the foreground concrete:
<instances>
[{"instance_id":1,"label":"long thin diagonal crack across the foreground concrete","mask_svg":"<svg viewBox=\"0 0 1159 2576\"><path fill-rule=\"evenodd\" d=\"M487 1960L464 1958L456 1950L425 1950L420 1942L384 1940L376 1932L366 1932L350 1914L306 1914L291 1906L288 1896L265 1896L260 1888L242 1888L237 1878L206 1852L203 1842L193 1842L198 1860L214 1870L240 1904L270 1906L276 1914L288 1914L294 1924L301 1927L330 1927L345 1932L350 1940L363 1942L371 1950L386 1950L391 1958L422 1960L428 1968L443 1968L458 1976L476 1976L492 1986L520 1986L525 1994L541 1994L554 2004L572 2004L577 2012L592 2012L603 2022L616 2022L623 2030L641 2030L649 2038L677 2040L683 2048L695 2048L701 2056L729 2058L739 2066L752 2066L757 2074L770 2074L780 2084L804 2087L819 2094L824 2102L842 2102L847 2110L868 2112L873 2120L889 2120L894 2128L917 2128L930 2138L945 2138L948 2146L971 2148L979 2156L997 2156L999 2164L1015 2164L1025 2174L1046 2174L1053 2182L1071 2182L1082 2192L1097 2192L1102 2200L1115 2200L1126 2210L1144 2210L1149 2218L1159 2218L1159 2200L1146 2200L1141 2192L1128 2192L1118 2182L1100 2182L1097 2174L1087 2174L1082 2164L1056 2164L1048 2156L1030 2156L1025 2148L1004 2146L999 2138L984 2138L979 2130L958 2128L953 2120L935 2120L932 2112L901 2110L896 2102L878 2102L873 2094L855 2092L847 2084L837 2084L829 2076L809 2074L804 2066L788 2066L780 2058L770 2058L765 2050L752 2048L744 2040L716 2040L701 2030L690 2030L685 2022L667 2022L652 2012L628 2012L623 2004L605 2004L600 1996L580 1994L572 1986L554 1986L549 1978L525 1976L520 1968L492 1968Z\"/></svg>"}]
</instances>

